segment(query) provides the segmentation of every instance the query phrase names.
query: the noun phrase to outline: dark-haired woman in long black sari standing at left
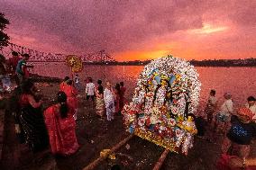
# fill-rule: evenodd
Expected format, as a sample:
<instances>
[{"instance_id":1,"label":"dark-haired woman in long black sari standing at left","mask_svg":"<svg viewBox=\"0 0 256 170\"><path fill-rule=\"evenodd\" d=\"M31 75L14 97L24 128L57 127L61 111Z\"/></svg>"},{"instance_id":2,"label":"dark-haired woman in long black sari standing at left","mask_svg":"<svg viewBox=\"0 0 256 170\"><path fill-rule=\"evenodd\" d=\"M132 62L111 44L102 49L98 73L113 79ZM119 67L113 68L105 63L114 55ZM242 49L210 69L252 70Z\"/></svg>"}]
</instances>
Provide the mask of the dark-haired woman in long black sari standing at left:
<instances>
[{"instance_id":1,"label":"dark-haired woman in long black sari standing at left","mask_svg":"<svg viewBox=\"0 0 256 170\"><path fill-rule=\"evenodd\" d=\"M36 152L48 146L48 135L41 112L42 101L36 101L33 89L34 85L30 80L23 82L20 121L26 143Z\"/></svg>"}]
</instances>

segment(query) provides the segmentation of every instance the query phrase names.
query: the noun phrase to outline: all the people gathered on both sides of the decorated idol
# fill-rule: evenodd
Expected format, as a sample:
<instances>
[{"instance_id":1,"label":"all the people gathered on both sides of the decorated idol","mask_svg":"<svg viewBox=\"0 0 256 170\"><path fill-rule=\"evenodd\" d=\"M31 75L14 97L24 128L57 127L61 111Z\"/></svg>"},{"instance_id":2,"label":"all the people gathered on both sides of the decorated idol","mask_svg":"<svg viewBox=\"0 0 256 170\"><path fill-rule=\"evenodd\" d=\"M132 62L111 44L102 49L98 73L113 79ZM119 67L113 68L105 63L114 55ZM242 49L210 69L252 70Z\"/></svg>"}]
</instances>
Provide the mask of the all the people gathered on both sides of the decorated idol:
<instances>
[{"instance_id":1,"label":"all the people gathered on both sides of the decorated idol","mask_svg":"<svg viewBox=\"0 0 256 170\"><path fill-rule=\"evenodd\" d=\"M17 87L14 89L13 102L15 132L21 143L28 144L33 152L41 151L50 144L54 155L69 156L77 152L79 145L76 137L78 114L78 92L82 90L79 76L66 76L59 85L56 102L42 110L43 98L29 78L28 54L19 57L17 52L7 61L0 56L0 79L3 89L8 90L6 79L12 76ZM123 82L112 85L110 81L87 78L85 99L93 103L100 121L114 121L121 114L125 103L126 87ZM210 130L209 139L215 140L216 134L224 137L223 155L217 162L218 170L256 169L256 158L251 158L251 141L256 136L256 99L247 98L247 103L235 109L232 94L224 94L224 103L219 104L211 90L206 103L206 122ZM220 105L220 107L219 107ZM200 125L200 123L199 123ZM197 123L198 133L200 132Z\"/></svg>"}]
</instances>

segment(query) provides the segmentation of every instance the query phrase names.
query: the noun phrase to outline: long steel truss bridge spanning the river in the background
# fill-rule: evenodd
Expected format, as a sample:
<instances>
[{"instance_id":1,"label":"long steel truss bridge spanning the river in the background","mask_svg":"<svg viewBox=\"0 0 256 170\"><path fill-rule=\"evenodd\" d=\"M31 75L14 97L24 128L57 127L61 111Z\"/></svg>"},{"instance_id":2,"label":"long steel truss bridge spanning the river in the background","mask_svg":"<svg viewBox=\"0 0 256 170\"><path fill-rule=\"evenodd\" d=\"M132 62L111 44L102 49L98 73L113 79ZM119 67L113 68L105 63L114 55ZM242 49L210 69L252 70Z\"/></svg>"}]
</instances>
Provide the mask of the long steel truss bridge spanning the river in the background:
<instances>
[{"instance_id":1,"label":"long steel truss bridge spanning the river in the background","mask_svg":"<svg viewBox=\"0 0 256 170\"><path fill-rule=\"evenodd\" d=\"M28 49L14 43L9 43L9 46L0 49L0 53L3 54L5 58L11 58L13 51L18 52L19 54L29 54L29 61L31 62L63 62L67 56L67 54L53 54ZM104 49L93 53L78 55L78 57L80 57L82 61L86 63L106 63L114 61L114 58L112 58L111 55L109 55Z\"/></svg>"}]
</instances>

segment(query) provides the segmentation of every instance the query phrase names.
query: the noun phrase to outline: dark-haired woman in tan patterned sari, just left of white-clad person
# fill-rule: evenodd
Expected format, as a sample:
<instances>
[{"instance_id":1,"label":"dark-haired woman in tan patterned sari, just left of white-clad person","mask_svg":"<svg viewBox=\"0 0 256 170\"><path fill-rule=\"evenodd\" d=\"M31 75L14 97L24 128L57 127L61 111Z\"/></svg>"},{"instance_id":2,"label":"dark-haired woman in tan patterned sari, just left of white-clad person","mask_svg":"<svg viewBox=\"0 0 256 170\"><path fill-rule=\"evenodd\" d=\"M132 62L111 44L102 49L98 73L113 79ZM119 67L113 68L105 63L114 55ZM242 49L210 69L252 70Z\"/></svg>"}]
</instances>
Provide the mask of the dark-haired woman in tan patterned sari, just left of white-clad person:
<instances>
[{"instance_id":1,"label":"dark-haired woman in tan patterned sari, just left of white-clad person","mask_svg":"<svg viewBox=\"0 0 256 170\"><path fill-rule=\"evenodd\" d=\"M104 103L104 96L103 96L103 86L98 85L96 90L96 114L100 116L101 120L103 120L105 112L105 103Z\"/></svg>"}]
</instances>

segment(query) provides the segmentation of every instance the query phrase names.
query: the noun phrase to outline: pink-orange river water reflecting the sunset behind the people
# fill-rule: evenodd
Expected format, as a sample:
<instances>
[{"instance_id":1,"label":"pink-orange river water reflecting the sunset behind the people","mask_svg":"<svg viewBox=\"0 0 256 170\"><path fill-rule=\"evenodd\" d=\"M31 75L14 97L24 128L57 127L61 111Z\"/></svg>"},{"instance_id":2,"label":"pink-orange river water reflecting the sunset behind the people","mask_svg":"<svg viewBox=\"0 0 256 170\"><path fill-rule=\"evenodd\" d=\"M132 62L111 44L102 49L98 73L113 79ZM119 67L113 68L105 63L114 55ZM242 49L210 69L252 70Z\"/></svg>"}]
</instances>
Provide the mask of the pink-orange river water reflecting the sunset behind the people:
<instances>
[{"instance_id":1,"label":"pink-orange river water reflecting the sunset behind the people","mask_svg":"<svg viewBox=\"0 0 256 170\"><path fill-rule=\"evenodd\" d=\"M36 63L34 66L32 72L41 76L60 78L71 76L70 68L64 63ZM123 81L127 87L127 98L130 101L137 76L142 69L142 66L85 66L83 72L78 75L83 85L85 85L87 76L93 77L95 81L107 79L113 84ZM205 107L207 95L211 89L216 90L219 104L223 102L225 92L233 94L236 107L245 103L249 95L256 95L255 67L197 67L197 72L202 83L199 112Z\"/></svg>"}]
</instances>

